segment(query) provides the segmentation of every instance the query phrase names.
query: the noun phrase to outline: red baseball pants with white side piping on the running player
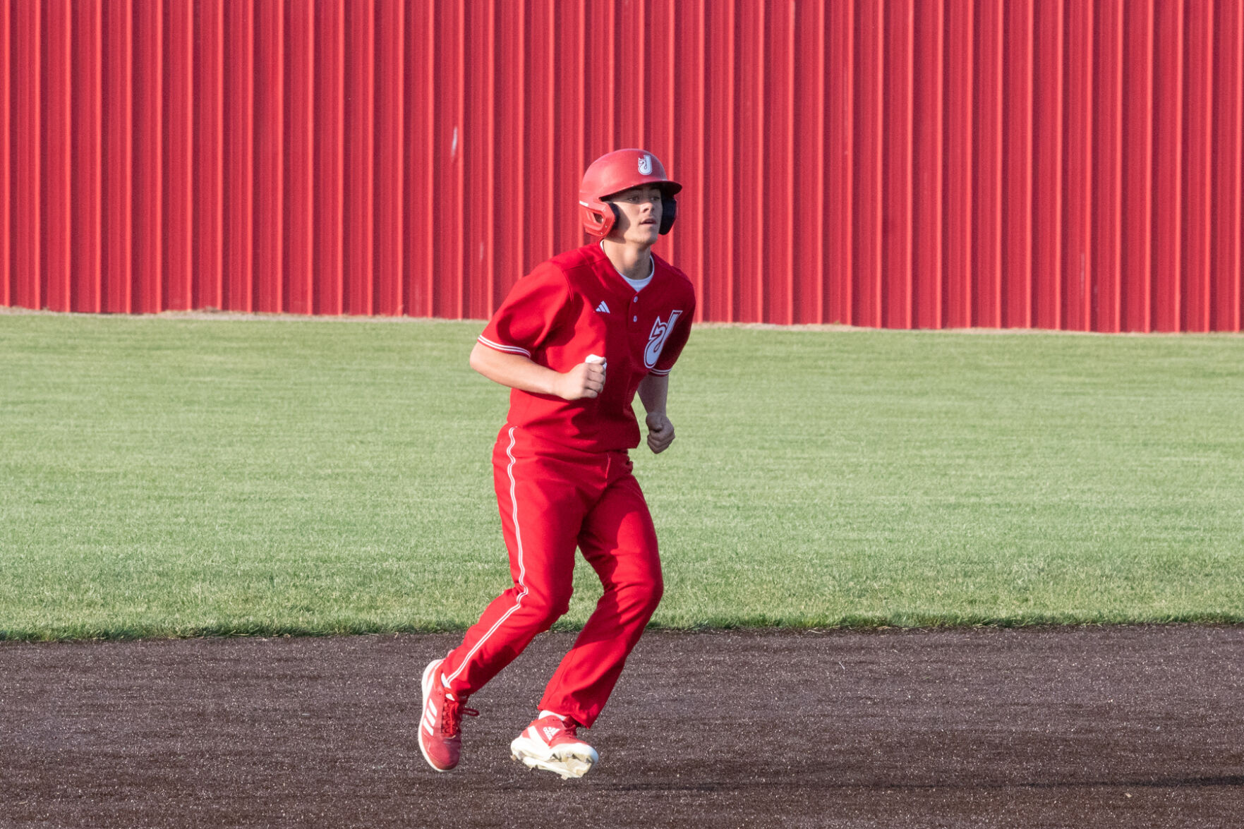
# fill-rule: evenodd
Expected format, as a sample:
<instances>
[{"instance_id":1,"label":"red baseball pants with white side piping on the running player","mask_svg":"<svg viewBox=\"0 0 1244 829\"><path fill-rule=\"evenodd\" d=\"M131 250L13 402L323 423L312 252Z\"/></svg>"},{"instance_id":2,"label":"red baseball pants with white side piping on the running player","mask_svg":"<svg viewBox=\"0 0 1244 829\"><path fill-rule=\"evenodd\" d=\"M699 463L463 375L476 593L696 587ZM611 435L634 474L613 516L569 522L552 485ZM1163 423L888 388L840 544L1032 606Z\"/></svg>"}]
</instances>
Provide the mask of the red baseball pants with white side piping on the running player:
<instances>
[{"instance_id":1,"label":"red baseball pants with white side piping on the running player","mask_svg":"<svg viewBox=\"0 0 1244 829\"><path fill-rule=\"evenodd\" d=\"M514 586L493 600L443 670L459 696L479 691L570 607L575 548L605 586L540 710L591 727L661 601L657 534L626 452L550 447L506 424L493 452Z\"/></svg>"}]
</instances>

